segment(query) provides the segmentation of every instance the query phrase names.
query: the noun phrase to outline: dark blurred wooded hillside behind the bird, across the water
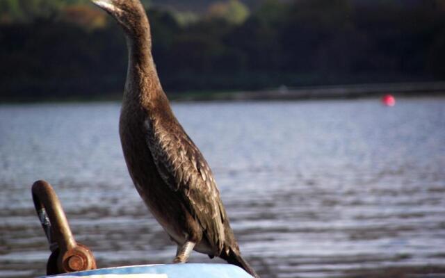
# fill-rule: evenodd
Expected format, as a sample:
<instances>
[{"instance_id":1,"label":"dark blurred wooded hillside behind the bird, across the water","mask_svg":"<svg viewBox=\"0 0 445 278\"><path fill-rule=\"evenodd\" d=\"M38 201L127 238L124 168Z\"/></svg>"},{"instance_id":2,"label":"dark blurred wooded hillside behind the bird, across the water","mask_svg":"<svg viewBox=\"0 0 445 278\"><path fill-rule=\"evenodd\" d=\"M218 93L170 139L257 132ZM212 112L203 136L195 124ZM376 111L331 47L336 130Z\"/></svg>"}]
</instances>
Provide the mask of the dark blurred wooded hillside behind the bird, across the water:
<instances>
[{"instance_id":1,"label":"dark blurred wooded hillside behind the bird, across the water","mask_svg":"<svg viewBox=\"0 0 445 278\"><path fill-rule=\"evenodd\" d=\"M167 92L445 80L443 0L144 1ZM89 0L0 1L0 99L122 92L120 28Z\"/></svg>"}]
</instances>

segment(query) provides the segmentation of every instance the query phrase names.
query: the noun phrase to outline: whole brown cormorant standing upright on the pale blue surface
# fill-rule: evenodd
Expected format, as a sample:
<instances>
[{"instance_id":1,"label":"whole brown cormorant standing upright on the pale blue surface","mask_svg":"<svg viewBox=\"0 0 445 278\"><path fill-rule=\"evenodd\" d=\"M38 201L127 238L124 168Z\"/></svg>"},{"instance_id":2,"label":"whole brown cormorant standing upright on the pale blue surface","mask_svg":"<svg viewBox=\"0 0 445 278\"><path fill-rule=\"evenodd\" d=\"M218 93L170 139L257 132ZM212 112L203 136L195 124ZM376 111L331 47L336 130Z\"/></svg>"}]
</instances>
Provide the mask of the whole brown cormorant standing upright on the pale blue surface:
<instances>
[{"instance_id":1,"label":"whole brown cormorant standing upright on the pale blue surface","mask_svg":"<svg viewBox=\"0 0 445 278\"><path fill-rule=\"evenodd\" d=\"M129 67L120 115L125 161L138 193L178 245L254 270L241 257L209 165L173 115L159 82L151 35L139 0L92 0L124 29Z\"/></svg>"}]
</instances>

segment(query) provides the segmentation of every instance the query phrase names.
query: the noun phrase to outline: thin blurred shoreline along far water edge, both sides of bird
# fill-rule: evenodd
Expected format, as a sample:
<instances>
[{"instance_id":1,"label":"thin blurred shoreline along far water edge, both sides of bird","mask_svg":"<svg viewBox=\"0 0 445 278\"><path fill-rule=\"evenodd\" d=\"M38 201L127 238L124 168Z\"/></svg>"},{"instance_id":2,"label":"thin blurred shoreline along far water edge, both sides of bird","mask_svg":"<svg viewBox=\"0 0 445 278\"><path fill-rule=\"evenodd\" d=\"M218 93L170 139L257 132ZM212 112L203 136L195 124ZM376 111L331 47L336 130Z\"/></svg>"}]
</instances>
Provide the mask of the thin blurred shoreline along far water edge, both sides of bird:
<instances>
[{"instance_id":1,"label":"thin blurred shoreline along far water edge, both sides of bird","mask_svg":"<svg viewBox=\"0 0 445 278\"><path fill-rule=\"evenodd\" d=\"M335 99L366 99L391 94L395 97L444 97L445 81L428 83L364 83L355 85L323 85L271 88L256 91L188 91L168 93L173 102L188 101L305 101ZM1 104L76 103L121 101L122 93L93 95L92 97L66 97L41 99L2 99Z\"/></svg>"}]
</instances>

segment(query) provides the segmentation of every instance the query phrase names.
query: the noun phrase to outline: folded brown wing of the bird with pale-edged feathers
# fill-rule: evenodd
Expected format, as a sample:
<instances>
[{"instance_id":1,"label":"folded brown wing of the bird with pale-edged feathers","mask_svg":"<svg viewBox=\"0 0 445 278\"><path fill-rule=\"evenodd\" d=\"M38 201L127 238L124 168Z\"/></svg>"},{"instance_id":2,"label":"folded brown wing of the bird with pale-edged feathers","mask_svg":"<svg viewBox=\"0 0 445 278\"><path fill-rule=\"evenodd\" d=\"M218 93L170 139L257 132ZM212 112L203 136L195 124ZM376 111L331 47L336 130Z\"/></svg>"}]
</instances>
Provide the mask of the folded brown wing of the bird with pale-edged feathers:
<instances>
[{"instance_id":1,"label":"folded brown wing of the bird with pale-edged feathers","mask_svg":"<svg viewBox=\"0 0 445 278\"><path fill-rule=\"evenodd\" d=\"M152 125L153 126L152 126ZM225 209L207 161L191 138L178 124L175 130L164 129L159 123L146 124L148 147L163 181L175 190L191 215L201 224L204 235L216 252L225 241Z\"/></svg>"}]
</instances>

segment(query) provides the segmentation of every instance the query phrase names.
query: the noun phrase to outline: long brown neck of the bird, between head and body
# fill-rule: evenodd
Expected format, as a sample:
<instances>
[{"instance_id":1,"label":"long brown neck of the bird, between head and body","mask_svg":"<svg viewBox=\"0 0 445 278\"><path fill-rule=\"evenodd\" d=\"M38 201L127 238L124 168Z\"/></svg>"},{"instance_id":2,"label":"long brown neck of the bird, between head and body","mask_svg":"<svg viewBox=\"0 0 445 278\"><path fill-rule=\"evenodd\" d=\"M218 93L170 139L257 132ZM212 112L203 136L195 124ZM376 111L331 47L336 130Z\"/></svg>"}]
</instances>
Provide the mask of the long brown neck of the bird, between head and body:
<instances>
[{"instance_id":1,"label":"long brown neck of the bird, between head and body","mask_svg":"<svg viewBox=\"0 0 445 278\"><path fill-rule=\"evenodd\" d=\"M159 94L163 94L152 56L152 37L147 17L143 17L138 28L127 33L129 64L125 83L124 101L137 101L149 105Z\"/></svg>"}]
</instances>

